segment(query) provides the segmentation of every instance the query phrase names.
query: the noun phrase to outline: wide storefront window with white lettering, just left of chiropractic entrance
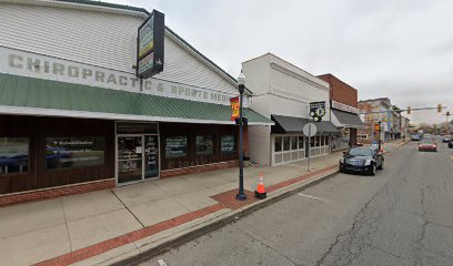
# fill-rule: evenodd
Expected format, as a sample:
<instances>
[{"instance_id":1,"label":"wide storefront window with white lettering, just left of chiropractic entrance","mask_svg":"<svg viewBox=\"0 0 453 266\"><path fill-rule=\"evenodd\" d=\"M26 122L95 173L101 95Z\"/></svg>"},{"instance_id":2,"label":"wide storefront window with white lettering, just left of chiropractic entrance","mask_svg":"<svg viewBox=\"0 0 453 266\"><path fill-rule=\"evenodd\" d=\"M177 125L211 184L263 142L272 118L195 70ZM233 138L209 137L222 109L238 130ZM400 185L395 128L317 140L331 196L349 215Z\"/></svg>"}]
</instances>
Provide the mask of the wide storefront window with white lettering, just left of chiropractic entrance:
<instances>
[{"instance_id":1,"label":"wide storefront window with white lettering, just left of chiropractic entrance","mask_svg":"<svg viewBox=\"0 0 453 266\"><path fill-rule=\"evenodd\" d=\"M105 137L46 137L47 168L85 167L104 164Z\"/></svg>"}]
</instances>

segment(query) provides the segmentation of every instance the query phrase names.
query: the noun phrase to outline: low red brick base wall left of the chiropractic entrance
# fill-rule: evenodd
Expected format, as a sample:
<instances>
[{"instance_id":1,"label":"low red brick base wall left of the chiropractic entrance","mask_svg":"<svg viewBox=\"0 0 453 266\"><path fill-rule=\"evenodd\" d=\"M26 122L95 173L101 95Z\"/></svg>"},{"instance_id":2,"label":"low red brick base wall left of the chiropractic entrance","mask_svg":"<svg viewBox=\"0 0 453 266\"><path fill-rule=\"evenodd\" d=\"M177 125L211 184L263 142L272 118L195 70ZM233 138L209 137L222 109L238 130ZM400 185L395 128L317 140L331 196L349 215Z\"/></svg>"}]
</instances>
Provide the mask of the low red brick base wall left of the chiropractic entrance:
<instances>
[{"instance_id":1,"label":"low red brick base wall left of the chiropractic entrance","mask_svg":"<svg viewBox=\"0 0 453 266\"><path fill-rule=\"evenodd\" d=\"M20 192L14 194L1 195L0 207L17 203L26 203L59 196L82 194L87 192L107 190L111 187L114 187L114 180L95 181L83 184L51 187L40 191Z\"/></svg>"}]
</instances>

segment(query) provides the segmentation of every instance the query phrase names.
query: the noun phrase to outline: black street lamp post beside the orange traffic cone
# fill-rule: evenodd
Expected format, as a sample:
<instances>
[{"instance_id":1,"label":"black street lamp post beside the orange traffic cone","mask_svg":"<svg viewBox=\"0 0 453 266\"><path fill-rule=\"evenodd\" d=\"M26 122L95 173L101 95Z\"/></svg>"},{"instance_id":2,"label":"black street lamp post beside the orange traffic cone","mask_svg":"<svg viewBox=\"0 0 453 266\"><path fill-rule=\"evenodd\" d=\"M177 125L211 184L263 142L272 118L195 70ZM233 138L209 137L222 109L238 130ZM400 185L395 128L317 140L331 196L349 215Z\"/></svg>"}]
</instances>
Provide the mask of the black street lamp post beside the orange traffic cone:
<instances>
[{"instance_id":1,"label":"black street lamp post beside the orange traffic cone","mask_svg":"<svg viewBox=\"0 0 453 266\"><path fill-rule=\"evenodd\" d=\"M244 193L244 151L242 145L242 98L245 90L245 76L241 73L238 76L239 89L239 192L236 195L238 201L245 201L246 195Z\"/></svg>"}]
</instances>

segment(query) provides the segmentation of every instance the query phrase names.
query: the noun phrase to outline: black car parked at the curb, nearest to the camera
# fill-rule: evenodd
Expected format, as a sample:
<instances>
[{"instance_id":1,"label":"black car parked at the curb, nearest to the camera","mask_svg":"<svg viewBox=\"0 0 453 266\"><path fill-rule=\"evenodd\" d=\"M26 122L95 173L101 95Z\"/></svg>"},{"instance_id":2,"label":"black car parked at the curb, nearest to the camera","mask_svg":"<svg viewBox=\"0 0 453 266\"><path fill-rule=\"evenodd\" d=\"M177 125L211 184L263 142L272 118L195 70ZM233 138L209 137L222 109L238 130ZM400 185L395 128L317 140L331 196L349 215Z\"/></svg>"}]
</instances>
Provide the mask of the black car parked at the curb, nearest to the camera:
<instances>
[{"instance_id":1,"label":"black car parked at the curb, nearest to the camera","mask_svg":"<svg viewBox=\"0 0 453 266\"><path fill-rule=\"evenodd\" d=\"M340 172L358 172L375 175L384 167L384 156L372 147L351 147L340 158Z\"/></svg>"}]
</instances>

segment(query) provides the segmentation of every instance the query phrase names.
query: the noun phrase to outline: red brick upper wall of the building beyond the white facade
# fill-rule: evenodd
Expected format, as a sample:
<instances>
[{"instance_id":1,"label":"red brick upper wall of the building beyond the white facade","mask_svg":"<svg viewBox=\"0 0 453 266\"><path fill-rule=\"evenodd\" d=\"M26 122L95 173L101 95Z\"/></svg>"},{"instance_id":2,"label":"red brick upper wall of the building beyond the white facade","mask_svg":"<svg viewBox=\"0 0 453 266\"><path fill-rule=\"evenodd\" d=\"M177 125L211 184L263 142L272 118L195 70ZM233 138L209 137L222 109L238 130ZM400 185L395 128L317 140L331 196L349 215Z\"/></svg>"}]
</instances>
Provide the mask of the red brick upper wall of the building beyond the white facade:
<instances>
[{"instance_id":1,"label":"red brick upper wall of the building beyond the white facade","mask_svg":"<svg viewBox=\"0 0 453 266\"><path fill-rule=\"evenodd\" d=\"M331 100L358 108L358 90L332 74L318 75L318 78L329 82Z\"/></svg>"}]
</instances>

